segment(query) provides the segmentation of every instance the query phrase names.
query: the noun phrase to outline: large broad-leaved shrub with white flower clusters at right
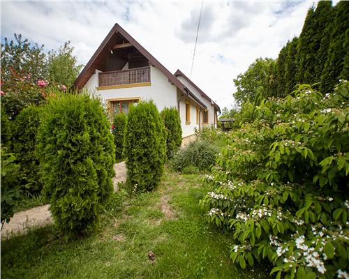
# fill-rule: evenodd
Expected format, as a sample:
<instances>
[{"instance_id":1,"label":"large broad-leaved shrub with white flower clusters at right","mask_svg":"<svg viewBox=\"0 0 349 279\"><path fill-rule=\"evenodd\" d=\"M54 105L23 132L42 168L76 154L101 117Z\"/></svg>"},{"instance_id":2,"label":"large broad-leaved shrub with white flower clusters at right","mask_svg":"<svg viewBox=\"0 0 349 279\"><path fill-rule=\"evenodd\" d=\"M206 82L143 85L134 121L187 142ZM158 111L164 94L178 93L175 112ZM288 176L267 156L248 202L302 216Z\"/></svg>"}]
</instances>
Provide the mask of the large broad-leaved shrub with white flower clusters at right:
<instances>
[{"instance_id":1,"label":"large broad-leaved shrub with white flower clusters at right","mask_svg":"<svg viewBox=\"0 0 349 279\"><path fill-rule=\"evenodd\" d=\"M348 278L348 89L300 85L230 134L201 204L243 269L268 259L276 278Z\"/></svg>"}]
</instances>

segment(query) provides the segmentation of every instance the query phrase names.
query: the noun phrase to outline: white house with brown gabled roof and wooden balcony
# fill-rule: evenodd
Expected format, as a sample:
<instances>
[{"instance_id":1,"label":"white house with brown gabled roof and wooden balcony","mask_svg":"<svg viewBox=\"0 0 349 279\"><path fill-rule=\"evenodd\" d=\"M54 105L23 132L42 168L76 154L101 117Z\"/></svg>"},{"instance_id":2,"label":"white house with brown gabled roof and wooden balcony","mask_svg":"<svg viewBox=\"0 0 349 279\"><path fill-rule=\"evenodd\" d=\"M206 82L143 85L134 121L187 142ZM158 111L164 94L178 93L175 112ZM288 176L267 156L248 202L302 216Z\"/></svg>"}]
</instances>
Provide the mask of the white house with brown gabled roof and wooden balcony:
<instances>
[{"instance_id":1,"label":"white house with brown gabled roof and wooden balcony","mask_svg":"<svg viewBox=\"0 0 349 279\"><path fill-rule=\"evenodd\" d=\"M195 128L217 125L220 108L184 73L172 74L130 34L115 24L74 83L101 96L112 113L128 112L130 103L154 100L158 110L177 107L182 137Z\"/></svg>"}]
</instances>

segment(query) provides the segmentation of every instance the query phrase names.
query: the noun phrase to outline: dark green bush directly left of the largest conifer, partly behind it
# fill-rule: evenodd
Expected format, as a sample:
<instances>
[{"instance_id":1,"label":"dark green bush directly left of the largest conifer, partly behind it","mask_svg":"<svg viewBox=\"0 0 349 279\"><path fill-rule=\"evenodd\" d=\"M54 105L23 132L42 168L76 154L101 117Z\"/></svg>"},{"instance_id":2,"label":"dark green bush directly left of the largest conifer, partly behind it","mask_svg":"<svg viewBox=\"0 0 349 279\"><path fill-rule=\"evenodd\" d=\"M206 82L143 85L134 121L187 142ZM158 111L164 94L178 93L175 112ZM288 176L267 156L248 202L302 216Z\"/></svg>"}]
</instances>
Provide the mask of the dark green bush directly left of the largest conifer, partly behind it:
<instances>
[{"instance_id":1,"label":"dark green bush directly left of the largest conifer, partly behind it","mask_svg":"<svg viewBox=\"0 0 349 279\"><path fill-rule=\"evenodd\" d=\"M42 107L31 105L24 108L15 119L13 133L13 151L17 154L17 162L23 174L22 185L29 193L40 193L41 183L40 162L36 156L36 135L40 123Z\"/></svg>"}]
</instances>

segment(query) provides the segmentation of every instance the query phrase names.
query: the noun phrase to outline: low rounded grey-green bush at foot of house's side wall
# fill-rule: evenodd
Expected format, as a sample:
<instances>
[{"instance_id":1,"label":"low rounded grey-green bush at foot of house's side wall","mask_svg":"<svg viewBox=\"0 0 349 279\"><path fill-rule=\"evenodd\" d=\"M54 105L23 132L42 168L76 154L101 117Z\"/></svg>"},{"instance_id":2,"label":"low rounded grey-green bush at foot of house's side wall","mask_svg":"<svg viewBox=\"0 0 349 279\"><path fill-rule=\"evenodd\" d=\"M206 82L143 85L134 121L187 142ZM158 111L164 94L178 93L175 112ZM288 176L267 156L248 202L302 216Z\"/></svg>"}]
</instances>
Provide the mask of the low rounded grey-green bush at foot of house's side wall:
<instances>
[{"instance_id":1,"label":"low rounded grey-green bush at foot of house's side wall","mask_svg":"<svg viewBox=\"0 0 349 279\"><path fill-rule=\"evenodd\" d=\"M183 173L207 171L214 165L217 153L217 146L204 140L195 140L174 156L171 162L172 169Z\"/></svg>"}]
</instances>

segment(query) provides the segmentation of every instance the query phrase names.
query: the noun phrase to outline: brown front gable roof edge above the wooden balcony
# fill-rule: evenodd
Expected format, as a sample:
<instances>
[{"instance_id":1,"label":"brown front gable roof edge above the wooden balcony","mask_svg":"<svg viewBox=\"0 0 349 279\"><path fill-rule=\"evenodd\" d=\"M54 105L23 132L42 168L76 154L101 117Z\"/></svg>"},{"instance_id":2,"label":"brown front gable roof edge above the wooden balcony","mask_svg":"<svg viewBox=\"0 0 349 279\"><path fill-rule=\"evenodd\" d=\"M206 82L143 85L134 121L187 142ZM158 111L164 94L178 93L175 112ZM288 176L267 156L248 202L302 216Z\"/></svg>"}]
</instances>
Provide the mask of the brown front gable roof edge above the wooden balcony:
<instances>
[{"instance_id":1,"label":"brown front gable roof edge above the wooden balcony","mask_svg":"<svg viewBox=\"0 0 349 279\"><path fill-rule=\"evenodd\" d=\"M114 27L112 27L112 30L107 34L101 45L98 47L94 55L91 57L89 62L84 66L82 69L80 75L77 77L77 79L74 82L74 86L77 89L82 89L82 87L87 83L91 75L93 75L96 71L96 68L94 68L94 63L98 59L98 56L101 55L107 47L110 47L110 41L112 40L112 37L115 33L119 33L121 36L123 36L126 40L128 40L133 47L135 47L145 58L147 58L152 65L154 65L158 70L163 73L166 77L168 77L169 82L177 86L177 88L185 93L189 98L195 100L196 103L201 105L202 107L206 108L207 106L202 103L184 84L182 84L177 77L174 77L172 73L168 69L166 69L154 56L152 56L140 43L138 43L129 33L127 33L119 24L115 24Z\"/></svg>"}]
</instances>

